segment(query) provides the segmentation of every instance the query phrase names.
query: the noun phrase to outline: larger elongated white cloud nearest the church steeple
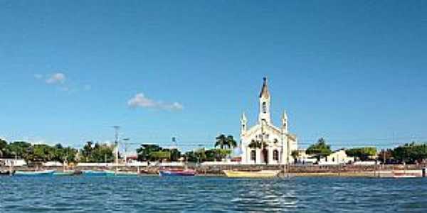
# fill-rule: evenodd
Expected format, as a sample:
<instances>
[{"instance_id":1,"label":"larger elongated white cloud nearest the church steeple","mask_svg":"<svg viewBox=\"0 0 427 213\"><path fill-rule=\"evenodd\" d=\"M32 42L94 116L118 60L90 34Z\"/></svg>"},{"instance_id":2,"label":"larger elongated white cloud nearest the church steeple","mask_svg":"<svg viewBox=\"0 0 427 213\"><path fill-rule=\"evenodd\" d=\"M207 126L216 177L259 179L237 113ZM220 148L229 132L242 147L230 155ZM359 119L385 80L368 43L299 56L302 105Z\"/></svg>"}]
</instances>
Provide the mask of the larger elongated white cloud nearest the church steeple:
<instances>
[{"instance_id":1,"label":"larger elongated white cloud nearest the church steeple","mask_svg":"<svg viewBox=\"0 0 427 213\"><path fill-rule=\"evenodd\" d=\"M164 103L164 102L158 102L154 99L149 99L144 96L143 93L135 94L135 97L132 97L127 102L127 105L129 107L142 107L142 108L154 108L154 109L164 109L164 110L182 110L184 109L184 106L182 104L179 104L178 102L174 102L172 104Z\"/></svg>"}]
</instances>

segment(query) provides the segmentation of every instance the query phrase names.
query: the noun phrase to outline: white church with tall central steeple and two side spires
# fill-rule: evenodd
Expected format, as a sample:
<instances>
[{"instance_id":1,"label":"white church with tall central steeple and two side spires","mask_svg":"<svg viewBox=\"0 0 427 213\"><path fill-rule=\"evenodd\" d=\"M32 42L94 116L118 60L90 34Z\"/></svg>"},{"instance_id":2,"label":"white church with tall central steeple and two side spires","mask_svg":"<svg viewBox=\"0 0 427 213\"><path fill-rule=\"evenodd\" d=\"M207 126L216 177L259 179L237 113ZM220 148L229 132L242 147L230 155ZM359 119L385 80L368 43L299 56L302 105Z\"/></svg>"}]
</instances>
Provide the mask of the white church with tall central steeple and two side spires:
<instances>
[{"instance_id":1,"label":"white church with tall central steeple and two side spires","mask_svg":"<svg viewBox=\"0 0 427 213\"><path fill-rule=\"evenodd\" d=\"M271 96L267 79L259 95L258 122L248 128L248 119L241 117L241 163L287 164L293 162L292 151L297 150L297 136L288 132L288 115L283 111L280 127L274 126L270 115Z\"/></svg>"}]
</instances>

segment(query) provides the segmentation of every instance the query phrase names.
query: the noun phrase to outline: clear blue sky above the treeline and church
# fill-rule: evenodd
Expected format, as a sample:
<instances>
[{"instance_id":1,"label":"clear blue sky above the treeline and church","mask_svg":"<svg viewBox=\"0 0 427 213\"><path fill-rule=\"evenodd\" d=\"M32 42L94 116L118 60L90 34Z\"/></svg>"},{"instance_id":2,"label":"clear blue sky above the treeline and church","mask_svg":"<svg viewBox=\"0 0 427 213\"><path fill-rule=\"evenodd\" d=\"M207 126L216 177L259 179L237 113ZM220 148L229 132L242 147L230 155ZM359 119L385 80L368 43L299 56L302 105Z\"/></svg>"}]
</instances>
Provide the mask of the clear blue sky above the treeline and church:
<instances>
[{"instance_id":1,"label":"clear blue sky above the treeline and church","mask_svg":"<svg viewBox=\"0 0 427 213\"><path fill-rule=\"evenodd\" d=\"M0 0L0 137L239 138L268 77L300 147L427 141L427 1Z\"/></svg>"}]
</instances>

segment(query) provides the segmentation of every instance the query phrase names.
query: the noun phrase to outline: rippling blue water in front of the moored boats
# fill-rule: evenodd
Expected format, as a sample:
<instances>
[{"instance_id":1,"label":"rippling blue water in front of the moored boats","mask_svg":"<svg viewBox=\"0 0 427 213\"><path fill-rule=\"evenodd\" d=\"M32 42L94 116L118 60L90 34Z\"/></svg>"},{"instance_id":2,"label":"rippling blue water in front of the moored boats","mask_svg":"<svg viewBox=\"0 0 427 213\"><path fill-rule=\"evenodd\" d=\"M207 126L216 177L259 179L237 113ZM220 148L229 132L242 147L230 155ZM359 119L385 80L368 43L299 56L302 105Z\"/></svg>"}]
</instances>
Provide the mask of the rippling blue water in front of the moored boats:
<instances>
[{"instance_id":1,"label":"rippling blue water in front of the moored boats","mask_svg":"<svg viewBox=\"0 0 427 213\"><path fill-rule=\"evenodd\" d=\"M427 212L427 178L0 177L0 212Z\"/></svg>"}]
</instances>

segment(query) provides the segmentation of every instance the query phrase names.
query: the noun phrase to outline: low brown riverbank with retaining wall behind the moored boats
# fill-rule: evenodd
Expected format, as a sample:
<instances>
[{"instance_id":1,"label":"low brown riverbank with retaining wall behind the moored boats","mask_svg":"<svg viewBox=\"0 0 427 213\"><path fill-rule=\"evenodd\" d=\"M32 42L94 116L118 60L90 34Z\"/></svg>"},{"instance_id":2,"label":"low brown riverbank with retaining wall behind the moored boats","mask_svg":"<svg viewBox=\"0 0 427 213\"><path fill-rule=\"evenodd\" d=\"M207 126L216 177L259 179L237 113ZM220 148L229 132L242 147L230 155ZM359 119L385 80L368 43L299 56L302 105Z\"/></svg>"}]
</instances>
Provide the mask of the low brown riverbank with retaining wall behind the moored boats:
<instances>
[{"instance_id":1,"label":"low brown riverbank with retaining wall behind the moored boats","mask_svg":"<svg viewBox=\"0 0 427 213\"><path fill-rule=\"evenodd\" d=\"M364 177L364 178L385 178L392 177L394 173L414 173L416 176L422 175L422 169L427 165L188 165L189 169L196 170L198 175L221 176L223 170L285 170L285 174L291 177ZM73 170L121 170L129 172L139 172L141 175L157 175L161 169L183 169L181 166L75 166ZM7 167L0 167L0 170L9 170ZM63 170L63 167L15 167L14 170Z\"/></svg>"}]
</instances>

